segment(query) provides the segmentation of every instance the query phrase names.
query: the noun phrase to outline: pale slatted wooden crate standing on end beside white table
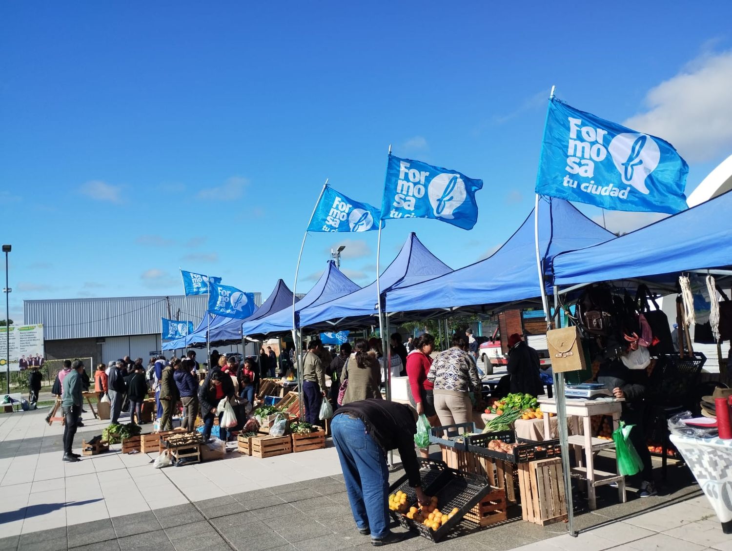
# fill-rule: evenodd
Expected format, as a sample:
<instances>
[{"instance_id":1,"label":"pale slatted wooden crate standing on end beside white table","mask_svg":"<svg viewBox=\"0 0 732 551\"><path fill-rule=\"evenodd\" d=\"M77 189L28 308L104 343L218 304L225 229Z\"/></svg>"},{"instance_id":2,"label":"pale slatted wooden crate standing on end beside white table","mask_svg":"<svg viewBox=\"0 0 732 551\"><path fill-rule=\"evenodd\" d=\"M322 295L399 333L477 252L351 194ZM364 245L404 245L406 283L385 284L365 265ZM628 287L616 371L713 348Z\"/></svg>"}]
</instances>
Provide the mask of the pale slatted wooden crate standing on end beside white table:
<instances>
[{"instance_id":1,"label":"pale slatted wooden crate standing on end beside white table","mask_svg":"<svg viewBox=\"0 0 732 551\"><path fill-rule=\"evenodd\" d=\"M561 457L518 465L523 520L545 526L567 520Z\"/></svg>"}]
</instances>

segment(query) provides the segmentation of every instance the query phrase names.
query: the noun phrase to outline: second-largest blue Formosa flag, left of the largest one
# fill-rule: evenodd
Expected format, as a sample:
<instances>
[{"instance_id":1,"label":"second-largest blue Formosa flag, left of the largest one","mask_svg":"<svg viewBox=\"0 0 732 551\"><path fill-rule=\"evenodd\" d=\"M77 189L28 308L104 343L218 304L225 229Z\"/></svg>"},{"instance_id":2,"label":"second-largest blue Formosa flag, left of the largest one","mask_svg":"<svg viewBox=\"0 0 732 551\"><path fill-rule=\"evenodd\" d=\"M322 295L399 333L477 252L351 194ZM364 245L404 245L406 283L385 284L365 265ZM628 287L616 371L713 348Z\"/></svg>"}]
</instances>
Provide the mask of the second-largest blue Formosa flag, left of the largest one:
<instances>
[{"instance_id":1,"label":"second-largest blue Formosa flag, left of the largest one","mask_svg":"<svg viewBox=\"0 0 732 551\"><path fill-rule=\"evenodd\" d=\"M469 230L478 220L475 192L482 187L482 180L457 170L389 155L381 220L435 218Z\"/></svg>"}]
</instances>

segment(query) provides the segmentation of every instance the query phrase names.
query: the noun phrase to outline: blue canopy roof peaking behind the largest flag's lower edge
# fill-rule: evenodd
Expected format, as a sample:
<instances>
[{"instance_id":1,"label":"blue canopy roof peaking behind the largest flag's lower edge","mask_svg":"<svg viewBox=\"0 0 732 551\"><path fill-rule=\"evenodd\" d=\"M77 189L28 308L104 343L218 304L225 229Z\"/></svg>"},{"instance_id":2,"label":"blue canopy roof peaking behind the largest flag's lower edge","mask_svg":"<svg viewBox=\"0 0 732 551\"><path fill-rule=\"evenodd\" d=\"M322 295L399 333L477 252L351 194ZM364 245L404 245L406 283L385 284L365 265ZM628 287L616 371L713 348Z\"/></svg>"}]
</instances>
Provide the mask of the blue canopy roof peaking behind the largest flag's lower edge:
<instances>
[{"instance_id":1,"label":"blue canopy roof peaking behind the largest flag's lower edge","mask_svg":"<svg viewBox=\"0 0 732 551\"><path fill-rule=\"evenodd\" d=\"M539 200L539 252L545 271L561 251L608 241L613 233L562 199ZM433 280L386 293L386 312L496 306L541 295L534 244L534 209L489 258Z\"/></svg>"}]
</instances>

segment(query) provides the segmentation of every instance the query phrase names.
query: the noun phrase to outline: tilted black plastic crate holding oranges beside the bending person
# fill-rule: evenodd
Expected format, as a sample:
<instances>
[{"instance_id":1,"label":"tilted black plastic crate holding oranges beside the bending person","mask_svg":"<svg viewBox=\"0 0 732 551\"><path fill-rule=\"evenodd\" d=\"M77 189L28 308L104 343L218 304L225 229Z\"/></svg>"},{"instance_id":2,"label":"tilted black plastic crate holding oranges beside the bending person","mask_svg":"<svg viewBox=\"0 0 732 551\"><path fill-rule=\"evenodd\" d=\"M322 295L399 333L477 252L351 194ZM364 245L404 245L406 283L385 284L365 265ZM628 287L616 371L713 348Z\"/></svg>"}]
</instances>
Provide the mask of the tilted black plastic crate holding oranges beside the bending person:
<instances>
[{"instance_id":1,"label":"tilted black plastic crate holding oranges beside the bending person","mask_svg":"<svg viewBox=\"0 0 732 551\"><path fill-rule=\"evenodd\" d=\"M438 530L427 528L421 522L414 522L397 511L389 511L389 514L408 530L417 531L431 541L440 541L452 528L460 524L463 517L493 488L490 487L485 476L457 471L449 468L442 461L421 458L418 461L419 473L422 476L422 490L425 494L430 497L437 496L438 507L441 511L452 511L457 507L458 512ZM400 490L407 495L408 506L416 506L417 494L414 492L414 488L409 486L407 475L402 476L389 487L390 494Z\"/></svg>"}]
</instances>

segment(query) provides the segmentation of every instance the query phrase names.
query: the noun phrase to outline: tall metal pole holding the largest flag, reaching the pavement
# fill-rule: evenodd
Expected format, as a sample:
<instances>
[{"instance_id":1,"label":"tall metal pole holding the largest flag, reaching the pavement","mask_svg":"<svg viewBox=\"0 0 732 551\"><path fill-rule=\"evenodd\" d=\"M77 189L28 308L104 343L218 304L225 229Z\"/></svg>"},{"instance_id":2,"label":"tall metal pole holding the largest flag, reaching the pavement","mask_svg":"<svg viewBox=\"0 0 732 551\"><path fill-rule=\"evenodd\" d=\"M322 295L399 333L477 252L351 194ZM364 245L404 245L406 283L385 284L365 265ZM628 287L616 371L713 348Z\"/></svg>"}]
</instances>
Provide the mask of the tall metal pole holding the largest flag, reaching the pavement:
<instances>
[{"instance_id":1,"label":"tall metal pole holding the largest flag, reaching the pavement","mask_svg":"<svg viewBox=\"0 0 732 551\"><path fill-rule=\"evenodd\" d=\"M544 121L544 132L549 122L549 111L551 109L551 100L554 99L554 91L556 86L551 87L549 93L549 105L547 106L547 115ZM544 149L544 136L542 135L542 151ZM539 157L539 163L541 157ZM537 176L538 179L538 176ZM537 181L537 184L539 182ZM604 213L603 213L604 214ZM544 282L544 266L542 255L539 252L539 194L536 194L534 200L534 247L537 254L537 274L539 275L539 291L542 296L542 307L544 308L544 316L547 323L547 330L551 329L551 316L549 312L547 292ZM556 301L556 287L554 288L554 300ZM575 533L575 514L572 506L572 479L569 471L569 442L567 441L567 402L564 396L564 373L555 373L553 375L554 396L556 400L556 417L557 432L559 432L559 445L561 446L562 467L564 471L564 498L567 501L567 531L570 536L577 536ZM589 484L589 482L588 482Z\"/></svg>"}]
</instances>

